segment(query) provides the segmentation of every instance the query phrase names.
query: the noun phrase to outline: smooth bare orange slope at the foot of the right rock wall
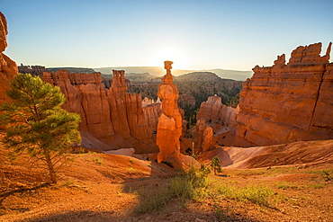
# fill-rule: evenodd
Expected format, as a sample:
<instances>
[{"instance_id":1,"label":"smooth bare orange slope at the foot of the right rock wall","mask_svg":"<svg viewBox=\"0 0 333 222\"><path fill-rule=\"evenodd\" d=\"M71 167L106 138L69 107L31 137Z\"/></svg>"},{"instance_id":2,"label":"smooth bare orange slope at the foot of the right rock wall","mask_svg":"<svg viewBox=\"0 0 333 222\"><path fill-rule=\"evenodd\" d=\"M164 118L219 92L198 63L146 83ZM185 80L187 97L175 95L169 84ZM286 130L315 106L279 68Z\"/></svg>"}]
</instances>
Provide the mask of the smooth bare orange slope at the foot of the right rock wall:
<instances>
[{"instance_id":1,"label":"smooth bare orange slope at the foot of the right rock wall","mask_svg":"<svg viewBox=\"0 0 333 222\"><path fill-rule=\"evenodd\" d=\"M266 147L216 147L201 158L207 161L214 156L219 157L222 166L234 169L333 164L333 140L299 141Z\"/></svg>"}]
</instances>

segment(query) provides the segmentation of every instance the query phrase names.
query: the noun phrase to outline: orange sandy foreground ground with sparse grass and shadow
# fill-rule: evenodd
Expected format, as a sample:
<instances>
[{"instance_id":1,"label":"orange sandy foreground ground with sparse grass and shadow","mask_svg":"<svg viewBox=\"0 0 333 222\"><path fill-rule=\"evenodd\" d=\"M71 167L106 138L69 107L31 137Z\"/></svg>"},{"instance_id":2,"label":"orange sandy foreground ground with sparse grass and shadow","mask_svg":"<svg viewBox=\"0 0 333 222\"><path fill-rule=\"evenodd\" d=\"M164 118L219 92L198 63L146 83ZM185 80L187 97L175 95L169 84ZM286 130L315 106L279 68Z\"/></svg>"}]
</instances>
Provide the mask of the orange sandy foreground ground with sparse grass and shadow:
<instances>
[{"instance_id":1,"label":"orange sandy foreground ground with sparse grass and shadow","mask_svg":"<svg viewBox=\"0 0 333 222\"><path fill-rule=\"evenodd\" d=\"M315 143L315 142L313 142ZM320 143L320 142L319 142ZM319 144L320 145L320 144ZM317 152L317 151L315 151ZM130 156L85 153L49 184L27 157L8 162L0 145L0 221L332 221L333 164L289 164L210 173L211 192L138 213L140 191L157 191L182 173ZM267 204L213 190L269 191ZM260 192L259 192L260 193ZM158 196L156 196L158 199Z\"/></svg>"}]
</instances>

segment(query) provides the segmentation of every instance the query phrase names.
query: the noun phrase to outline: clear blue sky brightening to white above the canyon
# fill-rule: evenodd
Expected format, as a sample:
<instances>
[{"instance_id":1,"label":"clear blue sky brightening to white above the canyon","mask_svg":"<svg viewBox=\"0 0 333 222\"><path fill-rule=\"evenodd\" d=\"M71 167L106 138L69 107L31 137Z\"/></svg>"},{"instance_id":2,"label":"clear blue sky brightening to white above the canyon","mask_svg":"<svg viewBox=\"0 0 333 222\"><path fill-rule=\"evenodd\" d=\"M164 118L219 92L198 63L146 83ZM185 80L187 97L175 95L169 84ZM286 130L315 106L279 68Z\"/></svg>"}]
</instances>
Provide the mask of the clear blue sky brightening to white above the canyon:
<instances>
[{"instance_id":1,"label":"clear blue sky brightening to white above the canyon","mask_svg":"<svg viewBox=\"0 0 333 222\"><path fill-rule=\"evenodd\" d=\"M0 0L0 11L4 53L46 67L250 70L333 41L333 0Z\"/></svg>"}]
</instances>

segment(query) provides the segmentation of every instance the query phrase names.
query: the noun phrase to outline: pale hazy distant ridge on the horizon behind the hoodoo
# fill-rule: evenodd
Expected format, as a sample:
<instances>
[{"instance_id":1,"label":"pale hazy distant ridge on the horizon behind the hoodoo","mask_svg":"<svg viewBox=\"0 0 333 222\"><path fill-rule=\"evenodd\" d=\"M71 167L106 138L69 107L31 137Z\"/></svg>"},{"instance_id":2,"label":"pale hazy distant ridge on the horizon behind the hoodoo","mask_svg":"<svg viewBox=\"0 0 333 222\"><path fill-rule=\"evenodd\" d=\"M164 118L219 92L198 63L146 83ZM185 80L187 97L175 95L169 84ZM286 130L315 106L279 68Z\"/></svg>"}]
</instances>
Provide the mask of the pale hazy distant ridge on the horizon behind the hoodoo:
<instances>
[{"instance_id":1,"label":"pale hazy distant ridge on the horizon behind the hoodoo","mask_svg":"<svg viewBox=\"0 0 333 222\"><path fill-rule=\"evenodd\" d=\"M128 74L149 74L161 76L166 74L166 70L163 67L100 67L94 68L95 71L101 72L104 75L111 75L112 69L121 69L125 70ZM245 81L247 78L251 77L252 71L239 71L239 70L226 70L221 68L214 69L201 69L201 70L183 70L183 69L173 69L173 75L184 75L193 72L211 72L223 79L233 79L238 81Z\"/></svg>"}]
</instances>

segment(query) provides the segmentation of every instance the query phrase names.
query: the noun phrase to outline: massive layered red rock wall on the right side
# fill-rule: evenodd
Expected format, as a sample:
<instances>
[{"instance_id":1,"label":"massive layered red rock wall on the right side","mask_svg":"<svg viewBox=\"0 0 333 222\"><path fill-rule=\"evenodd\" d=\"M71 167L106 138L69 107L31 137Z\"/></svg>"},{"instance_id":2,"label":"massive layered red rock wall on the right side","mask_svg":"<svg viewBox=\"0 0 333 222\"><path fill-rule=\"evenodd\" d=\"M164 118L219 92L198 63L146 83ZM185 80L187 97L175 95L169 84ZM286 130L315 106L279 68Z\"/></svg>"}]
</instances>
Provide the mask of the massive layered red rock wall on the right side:
<instances>
[{"instance_id":1,"label":"massive layered red rock wall on the right side","mask_svg":"<svg viewBox=\"0 0 333 222\"><path fill-rule=\"evenodd\" d=\"M285 65L255 67L243 84L236 145L243 147L333 138L333 64L331 43L298 47Z\"/></svg>"}]
</instances>

